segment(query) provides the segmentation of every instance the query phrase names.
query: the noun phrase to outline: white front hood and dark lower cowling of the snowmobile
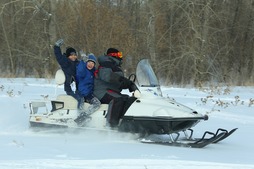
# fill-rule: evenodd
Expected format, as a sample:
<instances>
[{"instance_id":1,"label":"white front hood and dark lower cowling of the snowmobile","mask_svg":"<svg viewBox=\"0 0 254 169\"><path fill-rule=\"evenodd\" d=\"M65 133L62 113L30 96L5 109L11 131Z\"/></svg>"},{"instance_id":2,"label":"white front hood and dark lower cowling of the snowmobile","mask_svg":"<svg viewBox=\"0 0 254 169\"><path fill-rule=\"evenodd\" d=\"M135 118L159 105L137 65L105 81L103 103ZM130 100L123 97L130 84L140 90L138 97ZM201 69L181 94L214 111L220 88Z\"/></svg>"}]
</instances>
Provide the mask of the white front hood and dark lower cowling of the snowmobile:
<instances>
[{"instance_id":1,"label":"white front hood and dark lower cowling of the snowmobile","mask_svg":"<svg viewBox=\"0 0 254 169\"><path fill-rule=\"evenodd\" d=\"M125 113L119 126L121 131L169 134L207 119L191 108L155 94L151 88L142 91L142 96L144 99L137 99Z\"/></svg>"}]
</instances>

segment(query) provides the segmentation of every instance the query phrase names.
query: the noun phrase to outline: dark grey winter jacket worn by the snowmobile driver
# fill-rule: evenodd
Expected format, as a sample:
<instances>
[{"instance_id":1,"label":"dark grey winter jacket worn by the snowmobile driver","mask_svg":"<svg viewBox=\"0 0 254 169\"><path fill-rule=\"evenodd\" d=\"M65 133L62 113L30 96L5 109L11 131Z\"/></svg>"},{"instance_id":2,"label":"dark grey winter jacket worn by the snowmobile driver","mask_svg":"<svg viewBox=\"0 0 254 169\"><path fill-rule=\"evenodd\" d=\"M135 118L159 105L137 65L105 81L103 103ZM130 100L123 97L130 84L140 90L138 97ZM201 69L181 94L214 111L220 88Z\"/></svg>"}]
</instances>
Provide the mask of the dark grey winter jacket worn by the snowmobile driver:
<instances>
[{"instance_id":1,"label":"dark grey winter jacket worn by the snowmobile driver","mask_svg":"<svg viewBox=\"0 0 254 169\"><path fill-rule=\"evenodd\" d=\"M108 91L120 94L122 89L129 87L129 85L123 85L123 81L126 80L126 78L121 69L120 60L111 56L100 56L98 58L98 63L98 72L94 80L94 94L99 100L101 100Z\"/></svg>"}]
</instances>

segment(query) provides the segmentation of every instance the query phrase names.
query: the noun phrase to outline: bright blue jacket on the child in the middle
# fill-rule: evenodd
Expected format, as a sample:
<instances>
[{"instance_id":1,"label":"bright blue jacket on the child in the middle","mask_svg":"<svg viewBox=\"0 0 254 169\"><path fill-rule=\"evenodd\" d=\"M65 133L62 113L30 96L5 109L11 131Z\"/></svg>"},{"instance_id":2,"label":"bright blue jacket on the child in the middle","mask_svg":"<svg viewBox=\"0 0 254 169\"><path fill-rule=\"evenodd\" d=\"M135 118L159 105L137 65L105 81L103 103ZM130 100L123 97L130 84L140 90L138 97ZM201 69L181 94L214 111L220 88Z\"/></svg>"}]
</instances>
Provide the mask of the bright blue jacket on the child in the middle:
<instances>
[{"instance_id":1,"label":"bright blue jacket on the child in the middle","mask_svg":"<svg viewBox=\"0 0 254 169\"><path fill-rule=\"evenodd\" d=\"M77 65L77 83L79 94L83 97L87 97L93 94L94 90L94 72L95 67L92 70L87 69L86 62L83 60Z\"/></svg>"}]
</instances>

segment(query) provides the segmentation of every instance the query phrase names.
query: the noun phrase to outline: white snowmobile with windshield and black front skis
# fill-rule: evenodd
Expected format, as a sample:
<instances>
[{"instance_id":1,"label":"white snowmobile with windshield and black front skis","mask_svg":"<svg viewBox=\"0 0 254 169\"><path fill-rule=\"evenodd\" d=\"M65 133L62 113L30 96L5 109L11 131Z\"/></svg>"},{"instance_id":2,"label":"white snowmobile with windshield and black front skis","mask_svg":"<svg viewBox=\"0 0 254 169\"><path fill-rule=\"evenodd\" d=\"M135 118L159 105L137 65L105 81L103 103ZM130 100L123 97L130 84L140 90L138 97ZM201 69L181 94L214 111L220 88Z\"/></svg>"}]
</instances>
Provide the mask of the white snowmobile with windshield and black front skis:
<instances>
[{"instance_id":1,"label":"white snowmobile with windshield and black front skis","mask_svg":"<svg viewBox=\"0 0 254 169\"><path fill-rule=\"evenodd\" d=\"M217 143L237 128L227 131L218 129L215 133L205 132L201 138L193 138L191 129L200 121L208 120L207 115L164 97L159 81L148 59L142 59L136 67L136 73L130 79L138 86L141 95L135 99L119 120L116 128L108 127L107 104L85 119L82 127L74 119L79 112L77 101L73 97L60 94L55 100L30 101L31 127L67 127L96 130L118 130L140 134L143 143L155 143L172 146L201 148L211 143ZM55 76L56 83L63 84L64 74L60 71ZM132 96L134 97L134 96ZM88 107L87 103L85 107ZM51 108L51 110L49 110ZM181 137L184 133L184 137ZM210 135L210 136L208 136Z\"/></svg>"}]
</instances>

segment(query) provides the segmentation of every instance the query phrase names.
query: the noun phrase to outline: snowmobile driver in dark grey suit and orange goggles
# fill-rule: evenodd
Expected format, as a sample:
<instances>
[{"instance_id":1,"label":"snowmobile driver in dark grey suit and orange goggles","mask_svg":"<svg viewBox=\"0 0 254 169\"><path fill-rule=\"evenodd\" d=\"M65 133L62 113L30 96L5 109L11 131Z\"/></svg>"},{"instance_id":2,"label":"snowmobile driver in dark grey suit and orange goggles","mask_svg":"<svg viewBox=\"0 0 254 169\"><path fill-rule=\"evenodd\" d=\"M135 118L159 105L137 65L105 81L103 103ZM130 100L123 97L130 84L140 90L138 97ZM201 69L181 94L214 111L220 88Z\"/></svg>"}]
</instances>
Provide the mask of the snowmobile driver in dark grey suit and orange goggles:
<instances>
[{"instance_id":1,"label":"snowmobile driver in dark grey suit and orange goggles","mask_svg":"<svg viewBox=\"0 0 254 169\"><path fill-rule=\"evenodd\" d=\"M98 58L99 67L95 77L94 94L103 104L109 104L107 122L111 127L119 123L129 106L136 100L135 97L121 94L123 89L130 92L138 90L137 86L124 77L121 69L122 52L109 48L106 55Z\"/></svg>"}]
</instances>

